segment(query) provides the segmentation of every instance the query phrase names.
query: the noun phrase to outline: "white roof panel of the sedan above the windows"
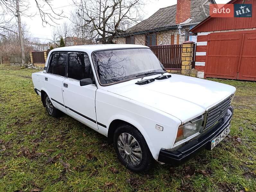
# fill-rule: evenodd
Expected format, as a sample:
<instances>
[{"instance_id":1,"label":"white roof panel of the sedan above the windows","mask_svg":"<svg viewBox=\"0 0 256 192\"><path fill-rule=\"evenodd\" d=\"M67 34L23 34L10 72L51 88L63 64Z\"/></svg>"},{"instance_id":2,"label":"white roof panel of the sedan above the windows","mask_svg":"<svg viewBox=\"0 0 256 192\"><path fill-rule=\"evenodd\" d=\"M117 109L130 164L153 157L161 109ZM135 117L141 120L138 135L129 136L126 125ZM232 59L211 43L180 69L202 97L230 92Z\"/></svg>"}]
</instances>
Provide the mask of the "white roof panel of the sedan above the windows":
<instances>
[{"instance_id":1,"label":"white roof panel of the sedan above the windows","mask_svg":"<svg viewBox=\"0 0 256 192\"><path fill-rule=\"evenodd\" d=\"M68 47L59 47L55 48L52 51L83 51L87 54L91 54L94 51L100 51L104 49L131 49L131 48L149 48L144 45L135 45L135 44L95 44L95 45L76 45ZM51 51L51 52L52 52Z\"/></svg>"}]
</instances>

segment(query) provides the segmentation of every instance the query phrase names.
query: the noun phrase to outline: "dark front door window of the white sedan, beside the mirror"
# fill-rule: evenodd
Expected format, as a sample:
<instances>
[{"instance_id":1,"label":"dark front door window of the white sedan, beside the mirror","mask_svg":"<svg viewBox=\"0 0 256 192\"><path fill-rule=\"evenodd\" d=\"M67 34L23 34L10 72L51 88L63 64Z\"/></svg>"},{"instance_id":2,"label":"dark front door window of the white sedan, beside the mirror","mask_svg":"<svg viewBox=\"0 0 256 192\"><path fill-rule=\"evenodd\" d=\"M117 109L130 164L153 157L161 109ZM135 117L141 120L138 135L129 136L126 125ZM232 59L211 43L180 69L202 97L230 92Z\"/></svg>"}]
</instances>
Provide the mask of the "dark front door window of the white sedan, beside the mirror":
<instances>
[{"instance_id":1,"label":"dark front door window of the white sedan, beside the mirror","mask_svg":"<svg viewBox=\"0 0 256 192\"><path fill-rule=\"evenodd\" d=\"M86 53L69 53L67 77L76 80L93 79L92 67Z\"/></svg>"}]
</instances>

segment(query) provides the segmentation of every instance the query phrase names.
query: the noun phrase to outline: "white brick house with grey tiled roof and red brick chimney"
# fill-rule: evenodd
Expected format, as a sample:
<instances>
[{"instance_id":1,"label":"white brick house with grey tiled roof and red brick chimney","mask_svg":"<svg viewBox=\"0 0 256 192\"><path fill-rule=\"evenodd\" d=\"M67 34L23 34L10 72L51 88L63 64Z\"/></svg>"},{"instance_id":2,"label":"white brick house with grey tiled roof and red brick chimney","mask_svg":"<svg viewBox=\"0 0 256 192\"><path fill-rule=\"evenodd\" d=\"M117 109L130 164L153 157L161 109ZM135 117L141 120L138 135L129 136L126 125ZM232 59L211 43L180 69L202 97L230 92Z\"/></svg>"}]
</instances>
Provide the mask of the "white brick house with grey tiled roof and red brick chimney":
<instances>
[{"instance_id":1,"label":"white brick house with grey tiled roof and red brick chimney","mask_svg":"<svg viewBox=\"0 0 256 192\"><path fill-rule=\"evenodd\" d=\"M215 4L215 1L177 0L176 5L159 9L113 42L147 46L182 44L188 40L196 42L195 36L188 36L189 30L209 16L209 4ZM180 32L178 25L181 26ZM101 43L101 39L97 42Z\"/></svg>"}]
</instances>

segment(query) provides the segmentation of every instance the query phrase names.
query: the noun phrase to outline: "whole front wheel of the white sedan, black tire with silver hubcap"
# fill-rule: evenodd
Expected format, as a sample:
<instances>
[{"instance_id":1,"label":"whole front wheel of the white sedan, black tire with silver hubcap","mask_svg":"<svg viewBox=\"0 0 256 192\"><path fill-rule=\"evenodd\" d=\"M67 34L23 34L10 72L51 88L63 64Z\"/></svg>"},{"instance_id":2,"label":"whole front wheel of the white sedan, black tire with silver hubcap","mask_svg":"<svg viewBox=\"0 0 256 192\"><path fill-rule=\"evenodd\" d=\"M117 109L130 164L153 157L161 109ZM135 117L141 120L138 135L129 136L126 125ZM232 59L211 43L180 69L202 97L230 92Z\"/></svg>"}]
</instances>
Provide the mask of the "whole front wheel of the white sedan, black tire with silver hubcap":
<instances>
[{"instance_id":1,"label":"whole front wheel of the white sedan, black tire with silver hubcap","mask_svg":"<svg viewBox=\"0 0 256 192\"><path fill-rule=\"evenodd\" d=\"M122 124L114 133L119 161L132 172L147 172L154 163L143 135L132 125Z\"/></svg>"}]
</instances>

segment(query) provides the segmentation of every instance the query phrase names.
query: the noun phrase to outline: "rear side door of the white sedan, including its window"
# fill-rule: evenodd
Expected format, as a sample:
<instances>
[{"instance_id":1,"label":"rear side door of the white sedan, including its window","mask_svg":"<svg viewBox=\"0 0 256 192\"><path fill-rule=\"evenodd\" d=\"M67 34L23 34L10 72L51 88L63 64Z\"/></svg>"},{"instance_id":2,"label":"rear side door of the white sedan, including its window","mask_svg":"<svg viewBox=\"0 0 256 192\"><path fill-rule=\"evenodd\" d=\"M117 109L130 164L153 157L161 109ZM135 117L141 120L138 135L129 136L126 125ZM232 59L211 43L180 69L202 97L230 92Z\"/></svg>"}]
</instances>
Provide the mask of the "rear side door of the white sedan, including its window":
<instances>
[{"instance_id":1,"label":"rear side door of the white sedan, including its window","mask_svg":"<svg viewBox=\"0 0 256 192\"><path fill-rule=\"evenodd\" d=\"M54 107L66 112L62 96L62 85L66 76L67 52L53 52L45 74L45 87Z\"/></svg>"}]
</instances>

